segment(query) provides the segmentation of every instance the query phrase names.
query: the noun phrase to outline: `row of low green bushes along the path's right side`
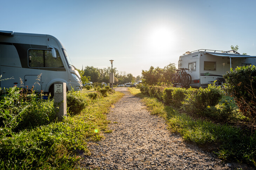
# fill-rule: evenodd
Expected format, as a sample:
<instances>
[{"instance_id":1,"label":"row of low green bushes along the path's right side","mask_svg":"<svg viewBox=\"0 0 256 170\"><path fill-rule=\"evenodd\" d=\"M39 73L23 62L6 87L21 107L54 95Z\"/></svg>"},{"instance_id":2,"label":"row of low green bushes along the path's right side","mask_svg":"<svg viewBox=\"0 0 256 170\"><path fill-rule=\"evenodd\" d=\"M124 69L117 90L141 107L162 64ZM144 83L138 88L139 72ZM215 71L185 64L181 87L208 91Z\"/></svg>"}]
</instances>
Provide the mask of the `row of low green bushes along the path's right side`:
<instances>
[{"instance_id":1,"label":"row of low green bushes along the path's right side","mask_svg":"<svg viewBox=\"0 0 256 170\"><path fill-rule=\"evenodd\" d=\"M166 105L181 108L188 113L208 117L220 123L234 118L237 109L235 102L227 98L223 90L214 84L210 84L205 89L143 86L140 90L143 94L158 98Z\"/></svg>"}]
</instances>

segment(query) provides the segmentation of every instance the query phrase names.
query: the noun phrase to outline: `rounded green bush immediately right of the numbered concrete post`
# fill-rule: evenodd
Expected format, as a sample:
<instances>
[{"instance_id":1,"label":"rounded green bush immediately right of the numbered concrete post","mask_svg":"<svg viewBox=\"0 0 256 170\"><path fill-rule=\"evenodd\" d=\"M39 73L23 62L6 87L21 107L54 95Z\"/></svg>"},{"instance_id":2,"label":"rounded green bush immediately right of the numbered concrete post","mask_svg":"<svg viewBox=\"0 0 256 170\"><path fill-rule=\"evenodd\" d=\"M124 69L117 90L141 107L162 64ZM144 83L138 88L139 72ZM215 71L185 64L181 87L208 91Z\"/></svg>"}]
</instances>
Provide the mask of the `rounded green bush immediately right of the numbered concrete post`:
<instances>
[{"instance_id":1,"label":"rounded green bush immediately right of the numbered concrete post","mask_svg":"<svg viewBox=\"0 0 256 170\"><path fill-rule=\"evenodd\" d=\"M88 101L89 99L81 93L75 91L67 93L67 107L72 114L80 113L88 105Z\"/></svg>"}]
</instances>

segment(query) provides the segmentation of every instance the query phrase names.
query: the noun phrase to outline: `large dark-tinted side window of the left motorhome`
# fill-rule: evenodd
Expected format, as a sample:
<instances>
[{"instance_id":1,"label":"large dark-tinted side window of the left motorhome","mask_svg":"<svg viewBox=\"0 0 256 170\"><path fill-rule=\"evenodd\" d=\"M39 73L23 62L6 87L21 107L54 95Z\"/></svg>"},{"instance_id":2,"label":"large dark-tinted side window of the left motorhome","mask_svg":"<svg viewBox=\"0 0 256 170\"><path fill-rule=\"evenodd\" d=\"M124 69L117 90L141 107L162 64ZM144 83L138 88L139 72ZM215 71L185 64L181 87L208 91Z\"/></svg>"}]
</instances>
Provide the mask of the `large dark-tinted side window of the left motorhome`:
<instances>
[{"instance_id":1,"label":"large dark-tinted side window of the left motorhome","mask_svg":"<svg viewBox=\"0 0 256 170\"><path fill-rule=\"evenodd\" d=\"M51 50L28 50L29 67L64 67L60 54L56 50L57 58L53 58Z\"/></svg>"}]
</instances>

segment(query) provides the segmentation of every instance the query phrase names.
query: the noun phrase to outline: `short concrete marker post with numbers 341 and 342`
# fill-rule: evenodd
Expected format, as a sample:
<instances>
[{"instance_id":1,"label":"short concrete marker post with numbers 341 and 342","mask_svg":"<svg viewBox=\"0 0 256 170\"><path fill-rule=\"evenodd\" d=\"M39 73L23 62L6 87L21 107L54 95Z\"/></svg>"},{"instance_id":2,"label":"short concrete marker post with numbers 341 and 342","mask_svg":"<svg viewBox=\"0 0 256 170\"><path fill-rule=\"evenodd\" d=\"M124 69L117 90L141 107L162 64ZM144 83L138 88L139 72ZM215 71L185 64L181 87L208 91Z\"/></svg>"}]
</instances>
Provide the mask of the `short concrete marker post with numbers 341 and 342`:
<instances>
[{"instance_id":1,"label":"short concrete marker post with numbers 341 and 342","mask_svg":"<svg viewBox=\"0 0 256 170\"><path fill-rule=\"evenodd\" d=\"M58 121L67 116L67 88L66 83L54 83L54 108Z\"/></svg>"}]
</instances>

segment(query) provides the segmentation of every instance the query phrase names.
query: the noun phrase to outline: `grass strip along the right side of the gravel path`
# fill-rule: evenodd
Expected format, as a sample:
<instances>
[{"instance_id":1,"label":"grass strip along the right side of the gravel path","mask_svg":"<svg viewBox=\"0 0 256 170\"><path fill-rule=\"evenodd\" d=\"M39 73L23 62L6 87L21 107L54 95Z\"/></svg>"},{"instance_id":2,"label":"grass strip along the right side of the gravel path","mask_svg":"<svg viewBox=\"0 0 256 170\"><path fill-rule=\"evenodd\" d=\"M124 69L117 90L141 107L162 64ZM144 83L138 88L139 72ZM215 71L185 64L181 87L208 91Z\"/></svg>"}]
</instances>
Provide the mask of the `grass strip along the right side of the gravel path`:
<instances>
[{"instance_id":1,"label":"grass strip along the right side of the gravel path","mask_svg":"<svg viewBox=\"0 0 256 170\"><path fill-rule=\"evenodd\" d=\"M194 119L171 106L164 106L153 97L140 94L140 90L129 91L148 106L152 114L159 114L166 119L171 132L178 132L184 140L193 141L201 146L215 145L215 153L222 160L235 160L256 166L256 134L250 136L239 128L228 124L215 124L208 120Z\"/></svg>"}]
</instances>

